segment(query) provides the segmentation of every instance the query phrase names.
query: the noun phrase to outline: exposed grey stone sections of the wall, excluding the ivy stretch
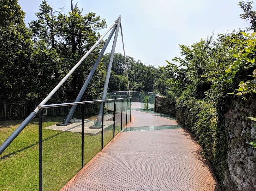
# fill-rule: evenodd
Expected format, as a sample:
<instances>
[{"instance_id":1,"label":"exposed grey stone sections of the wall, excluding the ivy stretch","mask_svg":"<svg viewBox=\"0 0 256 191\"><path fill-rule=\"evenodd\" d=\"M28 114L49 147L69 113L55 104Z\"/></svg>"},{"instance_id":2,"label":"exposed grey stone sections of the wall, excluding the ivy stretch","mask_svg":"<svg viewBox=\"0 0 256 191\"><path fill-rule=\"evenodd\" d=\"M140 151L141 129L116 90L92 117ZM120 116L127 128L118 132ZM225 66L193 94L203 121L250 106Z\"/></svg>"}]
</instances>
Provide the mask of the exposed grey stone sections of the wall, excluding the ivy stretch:
<instances>
[{"instance_id":1,"label":"exposed grey stone sections of the wall, excluding the ivy stretch","mask_svg":"<svg viewBox=\"0 0 256 191\"><path fill-rule=\"evenodd\" d=\"M230 109L224 114L225 129L221 134L227 137L227 157L220 159L221 163L215 164L214 169L224 169L223 175L219 176L219 183L223 190L256 190L256 149L249 144L256 140L255 122L247 117L255 117L256 101L231 102ZM184 109L183 109L184 110ZM164 96L156 97L156 111L176 117L179 122L190 130L186 125L189 119L184 116L182 109L176 111L176 102L169 101ZM221 129L221 128L220 128ZM222 164L223 165L223 164Z\"/></svg>"}]
</instances>

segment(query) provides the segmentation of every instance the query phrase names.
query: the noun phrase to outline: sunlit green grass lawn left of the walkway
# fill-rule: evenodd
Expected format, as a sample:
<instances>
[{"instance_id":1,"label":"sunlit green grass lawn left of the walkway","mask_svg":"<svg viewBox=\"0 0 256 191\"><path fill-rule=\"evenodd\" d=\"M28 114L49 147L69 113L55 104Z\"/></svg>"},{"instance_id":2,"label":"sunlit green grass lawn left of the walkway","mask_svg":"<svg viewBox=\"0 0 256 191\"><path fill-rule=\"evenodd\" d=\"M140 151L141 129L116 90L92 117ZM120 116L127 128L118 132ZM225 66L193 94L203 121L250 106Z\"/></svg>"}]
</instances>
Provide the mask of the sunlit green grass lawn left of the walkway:
<instances>
[{"instance_id":1,"label":"sunlit green grass lawn left of the walkway","mask_svg":"<svg viewBox=\"0 0 256 191\"><path fill-rule=\"evenodd\" d=\"M81 169L82 134L45 129L62 121L43 119L43 190L47 191L59 190ZM0 145L21 122L0 122ZM112 138L113 130L104 131L104 145ZM84 135L84 165L100 150L101 134ZM38 190L38 173L38 119L33 119L0 156L0 190Z\"/></svg>"}]
</instances>

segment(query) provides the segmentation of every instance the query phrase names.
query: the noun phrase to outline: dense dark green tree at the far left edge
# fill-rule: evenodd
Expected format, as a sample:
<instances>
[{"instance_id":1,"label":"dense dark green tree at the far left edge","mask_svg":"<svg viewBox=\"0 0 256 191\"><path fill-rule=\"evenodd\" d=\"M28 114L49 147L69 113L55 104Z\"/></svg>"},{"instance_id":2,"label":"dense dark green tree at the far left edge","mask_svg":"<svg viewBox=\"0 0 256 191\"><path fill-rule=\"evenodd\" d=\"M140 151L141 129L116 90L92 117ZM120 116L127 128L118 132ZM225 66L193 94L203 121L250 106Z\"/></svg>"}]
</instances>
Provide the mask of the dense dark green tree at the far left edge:
<instances>
[{"instance_id":1,"label":"dense dark green tree at the far left edge","mask_svg":"<svg viewBox=\"0 0 256 191\"><path fill-rule=\"evenodd\" d=\"M0 3L0 99L20 100L29 92L32 33L17 0ZM4 92L4 94L3 94Z\"/></svg>"}]
</instances>

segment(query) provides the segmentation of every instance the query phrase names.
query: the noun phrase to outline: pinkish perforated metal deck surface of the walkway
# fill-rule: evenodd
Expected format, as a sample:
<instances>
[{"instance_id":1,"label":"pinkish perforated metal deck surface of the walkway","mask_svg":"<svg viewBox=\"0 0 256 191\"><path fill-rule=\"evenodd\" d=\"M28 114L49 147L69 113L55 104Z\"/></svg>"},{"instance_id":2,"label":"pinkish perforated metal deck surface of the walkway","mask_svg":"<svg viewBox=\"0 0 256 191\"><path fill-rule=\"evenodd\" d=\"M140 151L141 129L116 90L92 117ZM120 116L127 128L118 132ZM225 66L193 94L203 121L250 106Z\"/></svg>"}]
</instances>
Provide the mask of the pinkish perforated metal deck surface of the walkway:
<instances>
[{"instance_id":1,"label":"pinkish perforated metal deck surface of the walkway","mask_svg":"<svg viewBox=\"0 0 256 191\"><path fill-rule=\"evenodd\" d=\"M130 129L145 117L147 123L154 120L152 124L162 120L165 128L120 132L62 191L220 190L211 164L202 158L192 134L176 121L153 113L143 112L140 121L138 112L128 125ZM166 129L166 120L175 128ZM156 129L161 129L161 124Z\"/></svg>"}]
</instances>

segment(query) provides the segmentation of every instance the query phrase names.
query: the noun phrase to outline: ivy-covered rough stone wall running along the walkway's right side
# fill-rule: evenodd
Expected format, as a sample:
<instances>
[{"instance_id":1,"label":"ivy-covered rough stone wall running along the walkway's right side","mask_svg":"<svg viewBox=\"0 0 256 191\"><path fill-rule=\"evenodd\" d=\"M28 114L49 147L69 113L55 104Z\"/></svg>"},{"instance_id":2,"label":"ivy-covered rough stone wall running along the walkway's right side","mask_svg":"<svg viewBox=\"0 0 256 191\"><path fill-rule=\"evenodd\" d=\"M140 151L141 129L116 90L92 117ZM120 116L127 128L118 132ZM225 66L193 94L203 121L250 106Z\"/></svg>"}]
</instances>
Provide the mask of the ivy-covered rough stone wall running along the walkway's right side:
<instances>
[{"instance_id":1,"label":"ivy-covered rough stone wall running along the walkway's right side","mask_svg":"<svg viewBox=\"0 0 256 191\"><path fill-rule=\"evenodd\" d=\"M256 151L249 143L256 132L247 116L256 112L256 101L227 101L230 107L223 117L209 101L168 96L157 96L156 111L175 116L199 139L222 190L255 190Z\"/></svg>"}]
</instances>

